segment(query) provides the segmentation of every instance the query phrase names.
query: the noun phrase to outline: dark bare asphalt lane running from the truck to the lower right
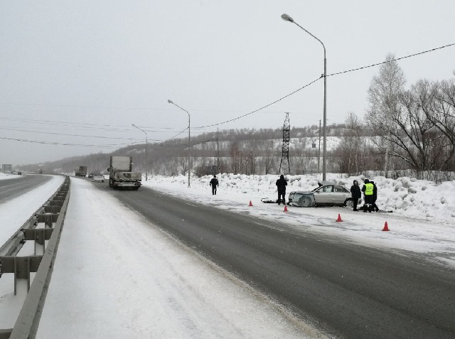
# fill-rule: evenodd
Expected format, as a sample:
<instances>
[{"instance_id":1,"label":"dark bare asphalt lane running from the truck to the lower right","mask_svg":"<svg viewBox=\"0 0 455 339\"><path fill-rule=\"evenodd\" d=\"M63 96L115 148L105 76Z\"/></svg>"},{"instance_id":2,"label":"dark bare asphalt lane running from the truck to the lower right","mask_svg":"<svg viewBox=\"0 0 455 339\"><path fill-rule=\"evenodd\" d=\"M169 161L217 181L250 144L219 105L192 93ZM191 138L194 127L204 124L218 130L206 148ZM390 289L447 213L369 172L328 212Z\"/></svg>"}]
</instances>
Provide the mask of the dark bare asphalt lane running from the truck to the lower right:
<instances>
[{"instance_id":1,"label":"dark bare asphalt lane running from the truck to the lower right","mask_svg":"<svg viewBox=\"0 0 455 339\"><path fill-rule=\"evenodd\" d=\"M336 338L455 338L454 269L148 188L94 185Z\"/></svg>"}]
</instances>

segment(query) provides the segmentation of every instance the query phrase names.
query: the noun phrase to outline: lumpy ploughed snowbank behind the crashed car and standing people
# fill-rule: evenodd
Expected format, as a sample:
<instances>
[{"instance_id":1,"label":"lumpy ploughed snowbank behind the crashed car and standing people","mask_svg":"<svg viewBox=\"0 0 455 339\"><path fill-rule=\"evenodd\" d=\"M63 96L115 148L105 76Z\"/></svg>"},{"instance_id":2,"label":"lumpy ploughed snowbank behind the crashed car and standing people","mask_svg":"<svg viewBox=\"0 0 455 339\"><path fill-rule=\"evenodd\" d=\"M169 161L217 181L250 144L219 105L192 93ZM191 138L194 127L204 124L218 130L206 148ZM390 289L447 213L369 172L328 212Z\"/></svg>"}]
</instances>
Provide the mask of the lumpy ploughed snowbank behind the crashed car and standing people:
<instances>
[{"instance_id":1,"label":"lumpy ploughed snowbank behind the crashed car and standing people","mask_svg":"<svg viewBox=\"0 0 455 339\"><path fill-rule=\"evenodd\" d=\"M195 193L196 200L203 190L210 191L209 182L212 176L191 178L191 191ZM231 196L240 198L237 194L248 195L249 199L277 198L277 175L246 176L244 174L223 173L217 176L220 183L218 194L230 193ZM294 190L309 191L318 187L316 176L286 176L288 180L287 193ZM432 181L417 180L415 178L398 178L397 180L377 176L368 178L378 187L377 205L382 210L392 210L398 215L422 220L439 220L441 222L454 222L455 218L455 181L436 184ZM342 178L339 175L328 173L327 181L343 185L348 190L357 180L360 187L365 180L364 176ZM188 188L186 176L154 176L145 185L174 186L175 189ZM171 184L171 185L169 185ZM188 190L185 193L190 193ZM237 193L232 195L232 193ZM241 199L241 198L240 198ZM245 199L245 198L243 198Z\"/></svg>"}]
</instances>

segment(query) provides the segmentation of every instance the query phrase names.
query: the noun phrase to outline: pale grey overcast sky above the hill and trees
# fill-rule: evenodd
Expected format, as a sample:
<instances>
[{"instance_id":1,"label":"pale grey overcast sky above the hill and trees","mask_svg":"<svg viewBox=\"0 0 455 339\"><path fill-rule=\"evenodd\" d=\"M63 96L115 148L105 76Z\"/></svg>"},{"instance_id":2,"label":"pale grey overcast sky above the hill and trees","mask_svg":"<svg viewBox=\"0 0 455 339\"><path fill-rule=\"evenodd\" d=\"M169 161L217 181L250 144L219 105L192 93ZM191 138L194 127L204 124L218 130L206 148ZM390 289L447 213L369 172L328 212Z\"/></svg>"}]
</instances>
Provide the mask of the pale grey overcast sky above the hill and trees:
<instances>
[{"instance_id":1,"label":"pale grey overcast sky above the hill and trees","mask_svg":"<svg viewBox=\"0 0 455 339\"><path fill-rule=\"evenodd\" d=\"M328 75L455 43L453 0L1 1L0 163L143 143L132 124L166 140L188 127L168 99L192 135L281 128L284 112L319 125L322 79L249 114L323 73L322 45L283 13L324 43ZM449 79L455 46L399 65L407 86ZM378 71L327 77L327 124L363 118Z\"/></svg>"}]
</instances>

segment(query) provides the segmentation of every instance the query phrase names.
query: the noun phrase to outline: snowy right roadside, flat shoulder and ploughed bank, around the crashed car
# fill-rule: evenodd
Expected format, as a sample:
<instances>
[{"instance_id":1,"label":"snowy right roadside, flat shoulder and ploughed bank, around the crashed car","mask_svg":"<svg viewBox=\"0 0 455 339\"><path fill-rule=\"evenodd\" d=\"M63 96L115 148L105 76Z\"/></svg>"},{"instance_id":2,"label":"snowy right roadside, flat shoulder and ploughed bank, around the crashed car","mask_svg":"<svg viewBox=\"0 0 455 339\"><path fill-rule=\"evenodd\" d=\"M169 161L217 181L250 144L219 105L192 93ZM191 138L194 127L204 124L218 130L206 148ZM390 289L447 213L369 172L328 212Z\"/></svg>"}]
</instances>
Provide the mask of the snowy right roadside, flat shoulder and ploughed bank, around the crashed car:
<instances>
[{"instance_id":1,"label":"snowy right roadside, flat shoulder and ploughed bank, around the crashed car","mask_svg":"<svg viewBox=\"0 0 455 339\"><path fill-rule=\"evenodd\" d=\"M221 174L217 195L208 185L212 176L188 177L153 176L142 181L169 194L188 200L225 208L268 220L279 220L282 227L293 227L301 232L323 232L378 248L398 249L424 254L427 259L455 266L455 181L436 185L414 178L397 180L369 178L378 186L377 205L391 213L353 212L350 208L296 208L284 212L282 205L262 203L261 198L277 199L276 175L245 176ZM312 190L318 187L315 176L286 176L287 193L293 190ZM350 189L354 180L363 185L363 176L341 178L328 173L327 180ZM249 206L250 201L252 207ZM336 222L338 214L343 222ZM382 232L387 222L390 232Z\"/></svg>"}]
</instances>

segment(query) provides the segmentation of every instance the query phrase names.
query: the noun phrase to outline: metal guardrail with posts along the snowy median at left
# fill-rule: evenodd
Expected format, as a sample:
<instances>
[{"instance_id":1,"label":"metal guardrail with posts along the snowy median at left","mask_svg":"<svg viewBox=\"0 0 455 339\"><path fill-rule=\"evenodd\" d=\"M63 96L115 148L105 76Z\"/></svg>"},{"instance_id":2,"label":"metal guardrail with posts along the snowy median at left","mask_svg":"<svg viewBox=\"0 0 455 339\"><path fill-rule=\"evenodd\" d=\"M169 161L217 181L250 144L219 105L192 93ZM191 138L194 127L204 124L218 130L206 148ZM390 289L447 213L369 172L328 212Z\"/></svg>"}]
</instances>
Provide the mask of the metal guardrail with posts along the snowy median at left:
<instances>
[{"instance_id":1,"label":"metal guardrail with posts along the snowy median at left","mask_svg":"<svg viewBox=\"0 0 455 339\"><path fill-rule=\"evenodd\" d=\"M18 281L27 281L28 286L28 294L14 328L0 329L0 339L36 337L69 200L70 178L67 176L56 193L0 247L0 277L14 273L15 295ZM44 224L43 228L37 228L40 223ZM18 257L27 240L34 240L35 255ZM32 272L36 275L31 283Z\"/></svg>"}]
</instances>

